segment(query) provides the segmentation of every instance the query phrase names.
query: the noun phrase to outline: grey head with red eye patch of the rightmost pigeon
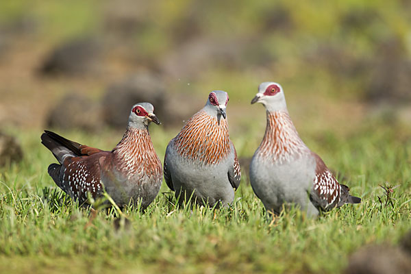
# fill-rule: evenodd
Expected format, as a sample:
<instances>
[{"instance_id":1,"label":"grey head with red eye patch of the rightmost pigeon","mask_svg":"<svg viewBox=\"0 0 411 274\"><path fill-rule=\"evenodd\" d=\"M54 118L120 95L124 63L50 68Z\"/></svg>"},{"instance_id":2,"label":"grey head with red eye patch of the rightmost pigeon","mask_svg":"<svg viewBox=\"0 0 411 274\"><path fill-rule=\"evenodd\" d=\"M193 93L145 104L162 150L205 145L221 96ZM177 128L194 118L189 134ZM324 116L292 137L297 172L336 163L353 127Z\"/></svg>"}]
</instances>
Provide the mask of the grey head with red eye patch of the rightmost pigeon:
<instances>
[{"instance_id":1,"label":"grey head with red eye patch of the rightmost pigeon","mask_svg":"<svg viewBox=\"0 0 411 274\"><path fill-rule=\"evenodd\" d=\"M262 103L270 112L287 110L286 97L280 84L264 82L258 86L258 93L251 103Z\"/></svg>"}]
</instances>

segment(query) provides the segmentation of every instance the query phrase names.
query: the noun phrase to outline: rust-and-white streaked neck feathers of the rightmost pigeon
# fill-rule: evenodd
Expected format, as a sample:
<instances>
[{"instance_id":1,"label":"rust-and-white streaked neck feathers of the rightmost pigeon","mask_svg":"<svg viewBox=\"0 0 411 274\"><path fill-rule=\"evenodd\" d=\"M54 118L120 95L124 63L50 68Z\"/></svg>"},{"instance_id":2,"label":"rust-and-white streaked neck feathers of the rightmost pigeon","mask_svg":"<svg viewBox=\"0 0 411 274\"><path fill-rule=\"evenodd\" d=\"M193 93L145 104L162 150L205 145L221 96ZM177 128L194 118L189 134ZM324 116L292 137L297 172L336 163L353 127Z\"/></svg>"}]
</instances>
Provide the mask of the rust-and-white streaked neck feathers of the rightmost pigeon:
<instances>
[{"instance_id":1,"label":"rust-and-white streaked neck feathers of the rightmost pigeon","mask_svg":"<svg viewBox=\"0 0 411 274\"><path fill-rule=\"evenodd\" d=\"M310 153L286 111L267 111L266 132L258 151L279 164Z\"/></svg>"}]
</instances>

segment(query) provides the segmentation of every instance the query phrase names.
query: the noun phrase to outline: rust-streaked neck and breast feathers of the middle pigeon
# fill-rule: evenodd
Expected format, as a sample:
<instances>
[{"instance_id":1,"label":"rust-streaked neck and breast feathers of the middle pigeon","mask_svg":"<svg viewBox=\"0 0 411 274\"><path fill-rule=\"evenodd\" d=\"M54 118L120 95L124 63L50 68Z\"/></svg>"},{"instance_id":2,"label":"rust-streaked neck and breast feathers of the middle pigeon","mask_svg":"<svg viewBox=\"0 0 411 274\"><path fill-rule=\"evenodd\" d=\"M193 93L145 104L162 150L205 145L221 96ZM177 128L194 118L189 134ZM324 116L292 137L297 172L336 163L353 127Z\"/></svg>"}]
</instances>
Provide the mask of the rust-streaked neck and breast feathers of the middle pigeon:
<instances>
[{"instance_id":1,"label":"rust-streaked neck and breast feathers of the middle pigeon","mask_svg":"<svg viewBox=\"0 0 411 274\"><path fill-rule=\"evenodd\" d=\"M179 155L203 164L218 164L230 152L227 121L203 110L194 114L174 138Z\"/></svg>"}]
</instances>

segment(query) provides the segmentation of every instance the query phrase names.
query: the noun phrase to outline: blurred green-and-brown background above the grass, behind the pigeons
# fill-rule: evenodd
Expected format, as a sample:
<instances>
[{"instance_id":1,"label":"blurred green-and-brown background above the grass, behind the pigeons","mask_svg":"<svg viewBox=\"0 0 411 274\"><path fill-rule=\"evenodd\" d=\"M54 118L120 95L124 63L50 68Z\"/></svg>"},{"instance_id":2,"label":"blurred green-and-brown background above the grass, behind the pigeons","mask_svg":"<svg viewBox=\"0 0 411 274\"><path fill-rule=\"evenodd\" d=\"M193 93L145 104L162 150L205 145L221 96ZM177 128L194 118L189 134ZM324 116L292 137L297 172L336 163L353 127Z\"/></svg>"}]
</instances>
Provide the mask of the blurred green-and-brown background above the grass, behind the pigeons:
<instances>
[{"instance_id":1,"label":"blurred green-and-brown background above the grass, behind the pigeons","mask_svg":"<svg viewBox=\"0 0 411 274\"><path fill-rule=\"evenodd\" d=\"M1 1L0 126L59 127L71 115L50 116L70 94L96 108L98 126L68 127L98 130L105 93L136 75L148 75L143 89L162 85L157 109L166 122L178 114L176 129L222 89L232 135L263 132L264 111L249 101L264 81L282 84L308 134L408 125L410 17L400 0Z\"/></svg>"}]
</instances>

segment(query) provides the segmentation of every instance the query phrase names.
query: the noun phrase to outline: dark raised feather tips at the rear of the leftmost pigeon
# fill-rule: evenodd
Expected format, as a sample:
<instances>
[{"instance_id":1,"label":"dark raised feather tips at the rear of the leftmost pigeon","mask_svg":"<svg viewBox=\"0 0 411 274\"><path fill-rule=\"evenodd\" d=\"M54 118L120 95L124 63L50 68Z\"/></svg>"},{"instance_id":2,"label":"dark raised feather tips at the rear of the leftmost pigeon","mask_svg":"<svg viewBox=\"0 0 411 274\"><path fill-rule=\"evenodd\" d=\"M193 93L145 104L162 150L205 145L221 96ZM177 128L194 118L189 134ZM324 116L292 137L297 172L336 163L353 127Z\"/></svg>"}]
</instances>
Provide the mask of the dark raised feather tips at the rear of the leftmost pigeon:
<instances>
[{"instance_id":1,"label":"dark raised feather tips at the rear of the leftmost pigeon","mask_svg":"<svg viewBox=\"0 0 411 274\"><path fill-rule=\"evenodd\" d=\"M41 143L49 149L54 157L60 162L63 163L66 156L79 156L82 155L80 151L80 144L77 142L72 142L66 138L55 134L54 132L49 132L45 130L45 133L41 135Z\"/></svg>"}]
</instances>

